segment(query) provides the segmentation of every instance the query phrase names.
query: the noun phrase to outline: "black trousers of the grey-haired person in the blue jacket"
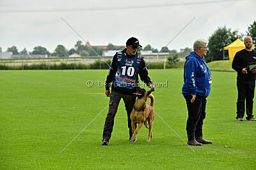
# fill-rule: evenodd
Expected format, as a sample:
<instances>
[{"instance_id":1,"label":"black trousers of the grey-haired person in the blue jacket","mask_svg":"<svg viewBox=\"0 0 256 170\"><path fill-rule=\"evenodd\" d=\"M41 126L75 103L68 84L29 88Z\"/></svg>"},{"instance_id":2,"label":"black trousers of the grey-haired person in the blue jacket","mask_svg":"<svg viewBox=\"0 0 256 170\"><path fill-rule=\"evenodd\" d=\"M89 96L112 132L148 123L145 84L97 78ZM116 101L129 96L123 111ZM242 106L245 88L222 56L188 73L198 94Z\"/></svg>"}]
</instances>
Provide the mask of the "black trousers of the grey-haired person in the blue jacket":
<instances>
[{"instance_id":1,"label":"black trousers of the grey-haired person in the blue jacket","mask_svg":"<svg viewBox=\"0 0 256 170\"><path fill-rule=\"evenodd\" d=\"M202 136L202 127L205 118L206 98L204 96L196 95L196 99L191 103L192 95L184 96L188 108L187 133L188 136L194 134L195 136Z\"/></svg>"}]
</instances>

